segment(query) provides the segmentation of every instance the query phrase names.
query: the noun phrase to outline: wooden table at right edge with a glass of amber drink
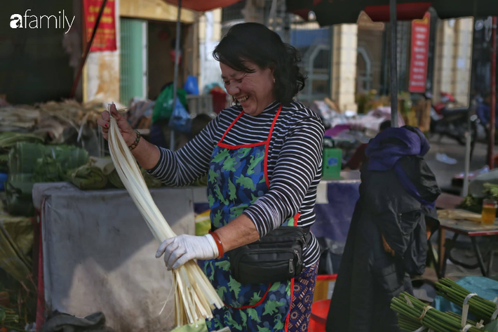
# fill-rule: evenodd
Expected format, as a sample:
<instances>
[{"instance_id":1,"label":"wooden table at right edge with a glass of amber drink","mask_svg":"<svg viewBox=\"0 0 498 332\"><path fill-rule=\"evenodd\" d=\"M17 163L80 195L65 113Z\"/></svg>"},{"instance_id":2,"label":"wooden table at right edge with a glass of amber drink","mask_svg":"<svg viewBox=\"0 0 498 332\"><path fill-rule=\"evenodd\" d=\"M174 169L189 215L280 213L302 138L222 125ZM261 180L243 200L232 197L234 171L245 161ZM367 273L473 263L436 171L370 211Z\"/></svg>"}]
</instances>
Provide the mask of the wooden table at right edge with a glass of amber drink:
<instances>
[{"instance_id":1,"label":"wooden table at right edge with a glass of amber drink","mask_svg":"<svg viewBox=\"0 0 498 332\"><path fill-rule=\"evenodd\" d=\"M480 272L484 277L487 277L490 271L486 271L483 261L483 255L480 253L479 246L477 244L477 237L490 237L498 235L498 223L494 225L485 225L481 223L476 223L469 220L450 220L450 219L440 219L440 230L448 230L450 232L455 232L452 241L445 241L444 247L439 247L439 258L443 257L440 261L440 275L439 277L445 277L446 273L446 262L449 259L453 264L461 265L467 269L480 268ZM471 239L473 250L476 253L478 263L475 265L469 265L452 258L451 249L455 246L455 242L459 235L465 235ZM440 241L441 242L441 241ZM442 250L443 249L443 250Z\"/></svg>"}]
</instances>

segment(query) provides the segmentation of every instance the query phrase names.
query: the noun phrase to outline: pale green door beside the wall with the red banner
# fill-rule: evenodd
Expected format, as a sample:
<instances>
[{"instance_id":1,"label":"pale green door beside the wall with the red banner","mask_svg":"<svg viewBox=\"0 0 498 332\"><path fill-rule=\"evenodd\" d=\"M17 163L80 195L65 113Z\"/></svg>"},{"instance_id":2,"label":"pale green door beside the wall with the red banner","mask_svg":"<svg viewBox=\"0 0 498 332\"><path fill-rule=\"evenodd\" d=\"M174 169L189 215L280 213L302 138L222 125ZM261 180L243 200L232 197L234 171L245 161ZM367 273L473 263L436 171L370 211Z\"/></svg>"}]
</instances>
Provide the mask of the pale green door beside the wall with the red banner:
<instances>
[{"instance_id":1,"label":"pale green door beside the wall with the red banner","mask_svg":"<svg viewBox=\"0 0 498 332\"><path fill-rule=\"evenodd\" d=\"M147 97L147 21L121 18L120 99Z\"/></svg>"}]
</instances>

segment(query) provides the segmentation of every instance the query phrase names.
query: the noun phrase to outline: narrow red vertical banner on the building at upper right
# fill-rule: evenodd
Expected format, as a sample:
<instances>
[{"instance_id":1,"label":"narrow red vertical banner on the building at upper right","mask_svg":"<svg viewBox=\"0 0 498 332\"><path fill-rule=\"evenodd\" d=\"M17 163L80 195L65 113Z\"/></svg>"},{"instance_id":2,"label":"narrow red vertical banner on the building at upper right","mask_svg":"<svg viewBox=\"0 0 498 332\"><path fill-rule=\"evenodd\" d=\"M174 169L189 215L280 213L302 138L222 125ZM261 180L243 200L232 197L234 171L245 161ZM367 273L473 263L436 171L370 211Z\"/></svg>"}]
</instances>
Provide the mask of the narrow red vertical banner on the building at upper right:
<instances>
[{"instance_id":1,"label":"narrow red vertical banner on the building at upper right","mask_svg":"<svg viewBox=\"0 0 498 332\"><path fill-rule=\"evenodd\" d=\"M429 32L431 14L422 20L412 21L412 55L410 63L410 84L408 91L424 93L427 81L427 59L429 56Z\"/></svg>"}]
</instances>

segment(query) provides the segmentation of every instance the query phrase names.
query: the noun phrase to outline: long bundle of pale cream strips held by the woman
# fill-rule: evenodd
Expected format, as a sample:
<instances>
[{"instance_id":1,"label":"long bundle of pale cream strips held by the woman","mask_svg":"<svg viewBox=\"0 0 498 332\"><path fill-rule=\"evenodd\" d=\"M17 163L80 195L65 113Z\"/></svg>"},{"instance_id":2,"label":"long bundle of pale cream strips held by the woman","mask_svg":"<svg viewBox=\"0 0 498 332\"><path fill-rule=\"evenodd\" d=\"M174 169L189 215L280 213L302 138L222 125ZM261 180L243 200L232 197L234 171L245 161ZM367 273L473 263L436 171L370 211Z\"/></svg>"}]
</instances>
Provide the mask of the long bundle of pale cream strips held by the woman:
<instances>
[{"instance_id":1,"label":"long bundle of pale cream strips held by the woman","mask_svg":"<svg viewBox=\"0 0 498 332\"><path fill-rule=\"evenodd\" d=\"M165 239L175 237L176 234L171 230L154 203L137 161L119 131L116 119L111 117L109 122L109 151L123 185L128 190L156 240L161 243ZM173 270L173 281L177 326L197 324L201 319L212 319L212 310L215 307L221 308L223 306L222 300L194 260Z\"/></svg>"}]
</instances>

